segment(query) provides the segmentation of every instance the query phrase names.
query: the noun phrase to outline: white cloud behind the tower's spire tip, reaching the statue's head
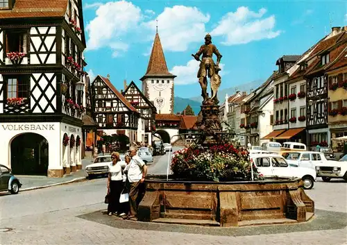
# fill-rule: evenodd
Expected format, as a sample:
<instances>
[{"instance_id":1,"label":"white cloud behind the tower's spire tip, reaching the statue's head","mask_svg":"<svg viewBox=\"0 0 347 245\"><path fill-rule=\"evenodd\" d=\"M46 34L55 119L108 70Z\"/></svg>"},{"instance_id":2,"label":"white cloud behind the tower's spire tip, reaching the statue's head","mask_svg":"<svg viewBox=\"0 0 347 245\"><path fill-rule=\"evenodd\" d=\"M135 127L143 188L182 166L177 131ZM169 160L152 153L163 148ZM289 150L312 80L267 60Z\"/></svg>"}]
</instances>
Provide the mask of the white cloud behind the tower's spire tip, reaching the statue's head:
<instances>
[{"instance_id":1,"label":"white cloud behind the tower's spire tip, reaching the statue's head","mask_svg":"<svg viewBox=\"0 0 347 245\"><path fill-rule=\"evenodd\" d=\"M158 33L163 49L186 51L190 43L203 41L206 34L205 23L210 21L210 15L205 15L195 7L164 8L157 18L142 24L150 31L148 40L153 40L157 26L156 19L158 19Z\"/></svg>"}]
</instances>

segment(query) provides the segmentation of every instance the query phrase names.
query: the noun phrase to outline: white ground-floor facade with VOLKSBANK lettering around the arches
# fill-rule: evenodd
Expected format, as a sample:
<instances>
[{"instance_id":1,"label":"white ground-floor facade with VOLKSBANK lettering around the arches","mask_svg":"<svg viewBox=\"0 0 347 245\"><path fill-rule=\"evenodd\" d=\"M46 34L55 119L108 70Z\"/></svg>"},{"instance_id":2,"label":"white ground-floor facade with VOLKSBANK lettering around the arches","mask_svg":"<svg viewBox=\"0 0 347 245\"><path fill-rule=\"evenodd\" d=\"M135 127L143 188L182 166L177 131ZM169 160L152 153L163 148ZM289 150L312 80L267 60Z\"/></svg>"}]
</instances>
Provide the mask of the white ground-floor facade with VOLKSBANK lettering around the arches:
<instances>
[{"instance_id":1,"label":"white ground-floor facade with VOLKSBANK lettering around the arches","mask_svg":"<svg viewBox=\"0 0 347 245\"><path fill-rule=\"evenodd\" d=\"M0 151L5 164L10 169L11 164L11 143L19 135L35 133L41 135L48 142L48 173L51 171L62 171L63 167L76 167L81 165L81 144L73 147L63 146L62 139L65 135L76 140L82 140L82 129L69 124L59 122L44 123L3 123L0 127ZM35 142L33 142L33 147Z\"/></svg>"}]
</instances>

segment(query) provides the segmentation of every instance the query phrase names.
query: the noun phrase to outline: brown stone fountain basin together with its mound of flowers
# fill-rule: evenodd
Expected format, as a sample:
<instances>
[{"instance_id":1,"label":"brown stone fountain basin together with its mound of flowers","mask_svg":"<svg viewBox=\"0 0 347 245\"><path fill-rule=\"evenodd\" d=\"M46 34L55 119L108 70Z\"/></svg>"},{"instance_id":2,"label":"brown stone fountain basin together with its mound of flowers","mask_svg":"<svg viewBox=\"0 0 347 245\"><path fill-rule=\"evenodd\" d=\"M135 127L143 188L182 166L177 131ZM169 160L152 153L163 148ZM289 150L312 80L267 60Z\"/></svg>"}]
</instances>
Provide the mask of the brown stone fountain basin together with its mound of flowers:
<instances>
[{"instance_id":1,"label":"brown stone fountain basin together with its mound of flowers","mask_svg":"<svg viewBox=\"0 0 347 245\"><path fill-rule=\"evenodd\" d=\"M298 223L314 214L314 202L298 178L251 180L248 151L231 144L192 146L172 158L173 175L148 176L140 221L249 226ZM254 169L256 170L256 169Z\"/></svg>"}]
</instances>

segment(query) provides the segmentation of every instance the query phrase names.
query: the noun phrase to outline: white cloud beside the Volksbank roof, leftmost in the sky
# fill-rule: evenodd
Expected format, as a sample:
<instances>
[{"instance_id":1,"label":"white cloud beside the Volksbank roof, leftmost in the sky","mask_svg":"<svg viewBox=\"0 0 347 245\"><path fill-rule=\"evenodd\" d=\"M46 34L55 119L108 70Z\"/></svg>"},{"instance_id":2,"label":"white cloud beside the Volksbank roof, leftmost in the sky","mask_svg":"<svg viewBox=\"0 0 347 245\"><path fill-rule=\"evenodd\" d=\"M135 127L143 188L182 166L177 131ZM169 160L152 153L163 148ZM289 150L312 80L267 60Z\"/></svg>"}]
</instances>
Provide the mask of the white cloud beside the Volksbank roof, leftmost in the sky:
<instances>
[{"instance_id":1,"label":"white cloud beside the Volksbank roof, leftmost in the sky","mask_svg":"<svg viewBox=\"0 0 347 245\"><path fill-rule=\"evenodd\" d=\"M113 56L119 51L126 51L128 44L121 39L137 28L141 20L141 9L133 3L117 1L99 6L96 17L87 24L86 29L89 35L87 49L110 47Z\"/></svg>"}]
</instances>

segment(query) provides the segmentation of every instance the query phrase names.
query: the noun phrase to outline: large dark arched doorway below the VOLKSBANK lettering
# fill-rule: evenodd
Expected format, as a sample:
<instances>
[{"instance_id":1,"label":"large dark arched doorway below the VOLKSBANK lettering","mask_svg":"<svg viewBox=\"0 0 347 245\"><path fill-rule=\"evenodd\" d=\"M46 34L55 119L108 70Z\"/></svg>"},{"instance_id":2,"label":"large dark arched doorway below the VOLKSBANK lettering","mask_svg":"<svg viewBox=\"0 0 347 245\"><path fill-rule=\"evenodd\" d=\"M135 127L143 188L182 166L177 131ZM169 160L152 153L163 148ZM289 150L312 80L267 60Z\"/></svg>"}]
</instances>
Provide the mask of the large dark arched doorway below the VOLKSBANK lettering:
<instances>
[{"instance_id":1,"label":"large dark arched doorway below the VOLKSBANK lettering","mask_svg":"<svg viewBox=\"0 0 347 245\"><path fill-rule=\"evenodd\" d=\"M37 133L17 135L10 143L13 174L47 175L48 142Z\"/></svg>"}]
</instances>

